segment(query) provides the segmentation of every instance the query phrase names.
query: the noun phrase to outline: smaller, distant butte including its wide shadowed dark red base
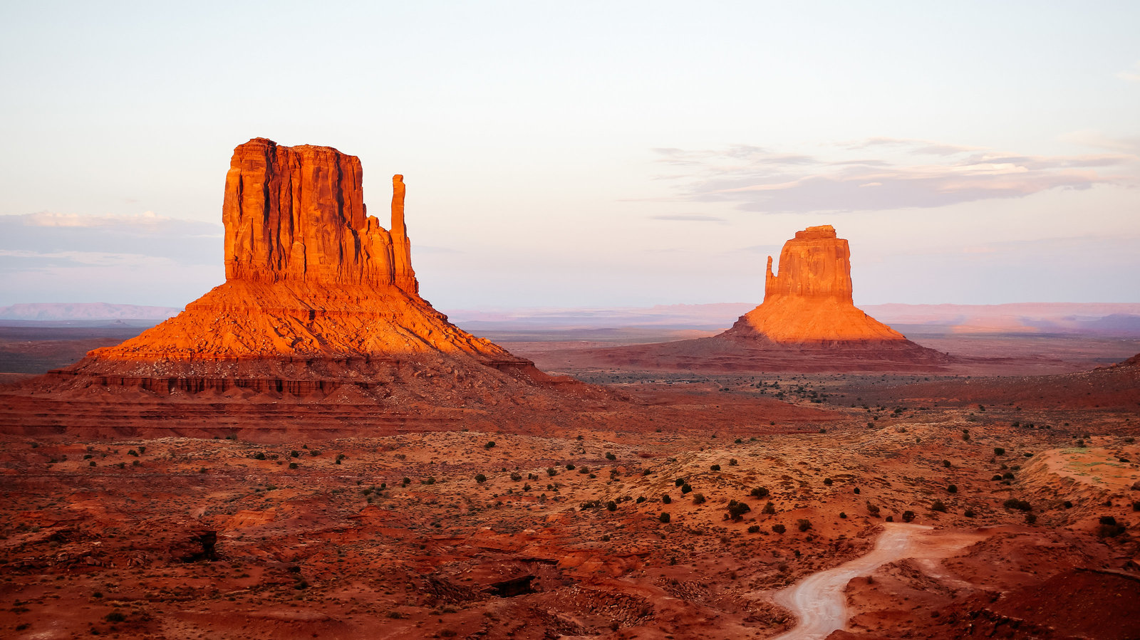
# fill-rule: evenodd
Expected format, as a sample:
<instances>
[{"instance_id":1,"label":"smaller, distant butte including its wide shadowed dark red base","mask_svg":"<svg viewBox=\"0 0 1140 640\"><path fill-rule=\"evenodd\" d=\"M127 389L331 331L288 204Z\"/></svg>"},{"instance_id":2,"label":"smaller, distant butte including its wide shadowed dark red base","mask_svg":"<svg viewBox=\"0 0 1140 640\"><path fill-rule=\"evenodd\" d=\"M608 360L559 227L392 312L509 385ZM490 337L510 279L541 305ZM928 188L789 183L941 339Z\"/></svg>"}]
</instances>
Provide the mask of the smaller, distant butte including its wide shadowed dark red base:
<instances>
[{"instance_id":1,"label":"smaller, distant butte including its wide shadowed dark red base","mask_svg":"<svg viewBox=\"0 0 1140 640\"><path fill-rule=\"evenodd\" d=\"M559 369L938 371L954 359L919 346L852 300L850 248L831 225L796 232L768 256L764 302L720 335L544 355Z\"/></svg>"}]
</instances>

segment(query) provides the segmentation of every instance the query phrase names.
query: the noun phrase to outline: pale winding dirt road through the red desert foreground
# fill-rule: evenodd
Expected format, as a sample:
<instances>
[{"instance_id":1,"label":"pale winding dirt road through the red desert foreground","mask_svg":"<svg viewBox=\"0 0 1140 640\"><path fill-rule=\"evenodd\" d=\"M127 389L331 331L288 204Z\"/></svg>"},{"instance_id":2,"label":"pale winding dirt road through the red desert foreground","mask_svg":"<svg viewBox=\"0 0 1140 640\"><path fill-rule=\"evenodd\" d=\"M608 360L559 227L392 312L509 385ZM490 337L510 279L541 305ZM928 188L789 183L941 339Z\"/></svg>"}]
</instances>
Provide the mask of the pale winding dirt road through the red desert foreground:
<instances>
[{"instance_id":1,"label":"pale winding dirt road through the red desert foreground","mask_svg":"<svg viewBox=\"0 0 1140 640\"><path fill-rule=\"evenodd\" d=\"M823 640L837 629L847 626L849 612L844 589L853 577L866 575L878 567L903 558L945 558L959 549L984 540L988 534L980 531L934 531L925 525L886 523L886 531L870 553L844 563L833 569L812 574L796 584L776 591L773 600L791 609L799 624L772 640ZM922 563L923 569L934 564ZM940 574L928 572L933 577ZM954 580L955 586L962 586Z\"/></svg>"}]
</instances>

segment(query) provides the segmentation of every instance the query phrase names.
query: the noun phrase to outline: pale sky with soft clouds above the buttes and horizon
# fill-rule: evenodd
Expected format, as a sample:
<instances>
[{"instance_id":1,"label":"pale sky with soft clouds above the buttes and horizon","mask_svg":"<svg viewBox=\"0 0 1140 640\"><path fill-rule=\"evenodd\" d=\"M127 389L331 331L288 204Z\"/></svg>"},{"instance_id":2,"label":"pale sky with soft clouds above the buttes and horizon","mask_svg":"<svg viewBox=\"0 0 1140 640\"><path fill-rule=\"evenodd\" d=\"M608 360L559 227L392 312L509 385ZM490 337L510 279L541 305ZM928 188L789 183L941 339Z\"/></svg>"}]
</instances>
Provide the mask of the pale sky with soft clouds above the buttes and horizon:
<instances>
[{"instance_id":1,"label":"pale sky with soft clouds above the buttes and horizon","mask_svg":"<svg viewBox=\"0 0 1140 640\"><path fill-rule=\"evenodd\" d=\"M6 2L0 305L223 281L255 137L405 174L438 309L1140 302L1140 3Z\"/></svg>"}]
</instances>

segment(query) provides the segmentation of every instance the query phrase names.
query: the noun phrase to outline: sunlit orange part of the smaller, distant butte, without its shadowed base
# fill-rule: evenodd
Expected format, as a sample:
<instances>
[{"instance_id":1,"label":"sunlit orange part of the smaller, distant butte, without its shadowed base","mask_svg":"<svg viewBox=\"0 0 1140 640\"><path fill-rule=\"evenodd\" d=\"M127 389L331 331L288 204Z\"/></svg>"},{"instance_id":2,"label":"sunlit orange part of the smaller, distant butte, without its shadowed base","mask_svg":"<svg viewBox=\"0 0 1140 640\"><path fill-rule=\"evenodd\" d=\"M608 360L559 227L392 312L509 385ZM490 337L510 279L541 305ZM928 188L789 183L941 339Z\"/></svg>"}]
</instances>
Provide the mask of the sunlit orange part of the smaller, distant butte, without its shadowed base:
<instances>
[{"instance_id":1,"label":"sunlit orange part of the smaller, distant butte, without its shadowed base","mask_svg":"<svg viewBox=\"0 0 1140 640\"><path fill-rule=\"evenodd\" d=\"M728 336L764 336L777 343L905 340L902 334L860 311L852 300L852 252L830 224L797 231L780 252L780 274L768 256L764 303L749 311Z\"/></svg>"}]
</instances>

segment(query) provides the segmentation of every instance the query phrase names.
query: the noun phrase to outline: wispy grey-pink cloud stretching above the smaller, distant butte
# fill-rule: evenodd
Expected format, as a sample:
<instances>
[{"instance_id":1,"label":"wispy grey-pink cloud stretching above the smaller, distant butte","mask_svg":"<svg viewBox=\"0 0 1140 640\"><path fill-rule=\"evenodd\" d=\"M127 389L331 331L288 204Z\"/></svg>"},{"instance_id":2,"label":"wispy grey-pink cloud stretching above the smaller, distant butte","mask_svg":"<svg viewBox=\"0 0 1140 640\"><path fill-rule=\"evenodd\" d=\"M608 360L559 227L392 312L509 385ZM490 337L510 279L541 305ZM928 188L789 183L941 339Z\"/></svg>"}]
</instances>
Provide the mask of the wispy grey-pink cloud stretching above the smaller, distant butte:
<instances>
[{"instance_id":1,"label":"wispy grey-pink cloud stretching above the smaller, distant butte","mask_svg":"<svg viewBox=\"0 0 1140 640\"><path fill-rule=\"evenodd\" d=\"M661 155L663 164L690 167L671 179L679 182L679 199L735 202L744 211L771 213L937 207L1133 183L1127 169L1138 159L1132 154L1037 156L898 138L844 142L819 157L743 145Z\"/></svg>"}]
</instances>

